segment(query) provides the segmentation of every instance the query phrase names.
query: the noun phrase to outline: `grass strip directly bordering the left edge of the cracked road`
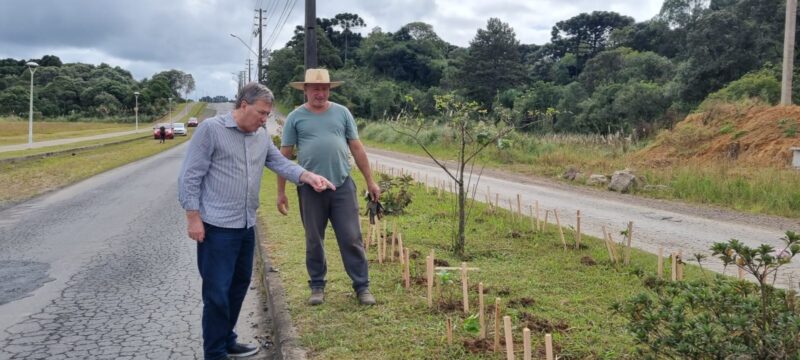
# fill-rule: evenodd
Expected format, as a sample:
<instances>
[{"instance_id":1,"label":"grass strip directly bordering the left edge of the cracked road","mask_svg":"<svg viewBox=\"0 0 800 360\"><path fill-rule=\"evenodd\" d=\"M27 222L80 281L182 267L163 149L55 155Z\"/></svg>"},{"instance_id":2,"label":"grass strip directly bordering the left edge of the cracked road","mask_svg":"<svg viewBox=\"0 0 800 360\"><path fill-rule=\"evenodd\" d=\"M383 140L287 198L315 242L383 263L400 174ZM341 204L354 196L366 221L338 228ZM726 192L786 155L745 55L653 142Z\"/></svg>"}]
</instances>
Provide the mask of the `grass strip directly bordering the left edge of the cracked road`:
<instances>
[{"instance_id":1,"label":"grass strip directly bordering the left edge of the cracked road","mask_svg":"<svg viewBox=\"0 0 800 360\"><path fill-rule=\"evenodd\" d=\"M0 207L31 199L45 192L157 154L188 139L188 136L181 136L161 145L148 136L139 141L65 152L20 163L0 164L0 183L4 184L0 187ZM76 147L75 144L71 144L71 146Z\"/></svg>"}]
</instances>

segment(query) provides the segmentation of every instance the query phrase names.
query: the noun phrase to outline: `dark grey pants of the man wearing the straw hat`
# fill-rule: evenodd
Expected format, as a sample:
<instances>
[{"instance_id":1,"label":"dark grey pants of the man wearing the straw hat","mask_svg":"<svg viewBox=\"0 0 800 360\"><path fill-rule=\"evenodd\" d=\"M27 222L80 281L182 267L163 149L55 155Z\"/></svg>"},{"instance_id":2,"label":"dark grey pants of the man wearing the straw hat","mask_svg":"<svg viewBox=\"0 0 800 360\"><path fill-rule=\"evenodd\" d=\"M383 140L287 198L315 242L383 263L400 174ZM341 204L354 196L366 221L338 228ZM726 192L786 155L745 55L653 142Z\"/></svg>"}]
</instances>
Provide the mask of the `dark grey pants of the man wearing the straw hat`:
<instances>
[{"instance_id":1,"label":"dark grey pants of the man wearing the straw hat","mask_svg":"<svg viewBox=\"0 0 800 360\"><path fill-rule=\"evenodd\" d=\"M353 289L360 293L369 288L367 256L361 238L358 199L353 180L347 178L336 191L326 190L321 193L310 186L299 186L297 195L300 199L300 218L306 230L306 269L311 288L325 287L328 266L325 262L324 241L328 220L336 234L344 269L353 281Z\"/></svg>"}]
</instances>

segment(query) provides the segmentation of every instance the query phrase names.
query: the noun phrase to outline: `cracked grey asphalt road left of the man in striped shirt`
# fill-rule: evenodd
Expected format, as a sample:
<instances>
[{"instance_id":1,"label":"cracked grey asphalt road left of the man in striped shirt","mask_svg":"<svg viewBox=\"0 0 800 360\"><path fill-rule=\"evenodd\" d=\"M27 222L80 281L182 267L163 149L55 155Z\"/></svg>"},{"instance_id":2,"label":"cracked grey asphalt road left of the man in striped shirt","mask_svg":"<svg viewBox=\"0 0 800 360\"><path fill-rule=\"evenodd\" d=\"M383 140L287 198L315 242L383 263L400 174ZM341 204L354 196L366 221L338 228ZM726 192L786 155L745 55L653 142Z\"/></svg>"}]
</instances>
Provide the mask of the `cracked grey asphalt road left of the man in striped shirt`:
<instances>
[{"instance_id":1,"label":"cracked grey asphalt road left of the man in striped shirt","mask_svg":"<svg viewBox=\"0 0 800 360\"><path fill-rule=\"evenodd\" d=\"M185 151L0 212L0 359L202 358L196 246L177 203ZM257 284L244 341L268 336Z\"/></svg>"}]
</instances>

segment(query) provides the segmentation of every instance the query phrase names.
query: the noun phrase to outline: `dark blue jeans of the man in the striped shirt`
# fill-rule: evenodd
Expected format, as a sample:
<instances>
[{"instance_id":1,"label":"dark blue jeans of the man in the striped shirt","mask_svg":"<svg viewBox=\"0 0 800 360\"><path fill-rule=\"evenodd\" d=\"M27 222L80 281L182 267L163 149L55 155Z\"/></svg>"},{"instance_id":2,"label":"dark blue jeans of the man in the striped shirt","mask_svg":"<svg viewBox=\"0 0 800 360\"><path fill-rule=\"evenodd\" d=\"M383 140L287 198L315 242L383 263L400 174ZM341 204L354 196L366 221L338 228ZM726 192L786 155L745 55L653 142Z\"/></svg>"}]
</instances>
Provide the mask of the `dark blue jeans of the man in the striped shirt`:
<instances>
[{"instance_id":1,"label":"dark blue jeans of the man in the striped shirt","mask_svg":"<svg viewBox=\"0 0 800 360\"><path fill-rule=\"evenodd\" d=\"M236 343L233 328L253 274L255 229L229 229L203 223L206 236L197 244L197 267L203 278L203 352L206 360L227 356Z\"/></svg>"}]
</instances>

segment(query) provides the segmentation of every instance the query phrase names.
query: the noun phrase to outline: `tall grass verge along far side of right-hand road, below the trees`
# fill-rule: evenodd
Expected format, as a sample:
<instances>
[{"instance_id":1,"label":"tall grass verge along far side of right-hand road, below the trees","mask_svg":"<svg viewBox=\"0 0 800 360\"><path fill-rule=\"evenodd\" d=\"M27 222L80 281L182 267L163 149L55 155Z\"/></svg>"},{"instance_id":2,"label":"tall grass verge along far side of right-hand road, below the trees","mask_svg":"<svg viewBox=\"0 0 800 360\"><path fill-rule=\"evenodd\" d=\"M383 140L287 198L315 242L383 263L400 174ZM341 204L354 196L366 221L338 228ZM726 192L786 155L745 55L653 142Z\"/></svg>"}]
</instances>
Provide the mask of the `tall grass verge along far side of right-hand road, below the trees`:
<instances>
[{"instance_id":1,"label":"tall grass verge along far side of right-hand road, below the trees","mask_svg":"<svg viewBox=\"0 0 800 360\"><path fill-rule=\"evenodd\" d=\"M368 146L420 156L419 145L393 131L386 124L371 123L360 131ZM738 133L734 135L734 138ZM440 159L455 159L452 140L441 129L426 130L422 136L431 152ZM771 167L746 168L730 163L669 166L647 165L635 158L635 150L646 144L626 146L619 139L585 135L517 135L508 151L490 146L478 158L478 164L523 175L560 179L570 166L582 176L581 185L590 174L610 175L632 168L644 175L648 184L667 185L662 191L637 191L640 196L709 204L740 211L800 217L800 177L792 169Z\"/></svg>"}]
</instances>

